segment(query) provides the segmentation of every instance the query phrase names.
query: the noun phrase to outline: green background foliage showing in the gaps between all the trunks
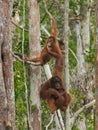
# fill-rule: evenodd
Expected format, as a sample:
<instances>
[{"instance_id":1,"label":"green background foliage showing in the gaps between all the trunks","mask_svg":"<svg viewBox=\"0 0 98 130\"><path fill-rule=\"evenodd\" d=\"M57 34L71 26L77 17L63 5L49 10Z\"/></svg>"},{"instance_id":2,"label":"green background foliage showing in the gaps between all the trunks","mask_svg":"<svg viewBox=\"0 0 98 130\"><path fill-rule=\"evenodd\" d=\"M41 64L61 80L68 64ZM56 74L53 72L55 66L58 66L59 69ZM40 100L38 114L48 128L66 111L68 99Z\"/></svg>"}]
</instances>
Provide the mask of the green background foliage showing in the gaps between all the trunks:
<instances>
[{"instance_id":1,"label":"green background foliage showing in the gaps between all the trunks","mask_svg":"<svg viewBox=\"0 0 98 130\"><path fill-rule=\"evenodd\" d=\"M59 30L59 35L58 37L60 39L63 39L63 21L64 21L64 10L60 7L64 5L63 0L58 0L59 4L53 3L53 0L47 1L47 7L53 17L56 19L57 22L57 27ZM78 6L85 6L86 1L85 0L70 0L70 17L76 16L76 10ZM92 4L94 5L94 4ZM39 2L40 6L40 21L41 25L44 25L46 29L50 32L50 19L48 15L45 12L43 2ZM15 0L14 5L13 5L13 14L12 17L15 17L15 11L18 10L19 12L19 26L23 27L23 0ZM93 7L92 7L93 8ZM25 29L28 30L28 1L26 1L26 19L25 19ZM85 62L86 64L91 66L91 71L94 69L95 65L95 20L94 20L95 14L94 12L91 12L91 34L90 34L90 46L89 49L86 50L83 54L85 57ZM69 21L69 26L70 26L70 37L69 37L69 49L71 49L75 56L77 57L77 37L76 37L76 32L75 32L75 21ZM47 34L45 32L41 31L41 46L43 47L46 42ZM28 31L25 31L25 46L24 46L24 51L25 54L29 54L29 33ZM19 27L15 27L15 30L13 32L13 51L16 52L22 52L22 29ZM50 61L49 65L51 66L51 70L53 70L53 64L54 61ZM26 66L27 69L27 85L28 85L28 91L29 91L29 76L28 76L28 66ZM43 70L43 68L42 68ZM71 114L76 112L79 108L83 106L83 99L85 98L85 95L83 92L81 92L79 86L77 85L77 82L75 78L77 73L77 61L72 52L69 50L69 71L70 71L70 92L74 95L73 96L73 102L71 104ZM74 73L75 72L75 73ZM23 65L19 61L15 60L14 61L14 83L15 83L15 102L16 102L16 125L18 130L27 130L27 111L26 111L26 99L25 99L25 86L24 86L24 79L23 79ZM74 78L75 77L75 78ZM84 77L84 76L83 76ZM83 79L83 77L81 79ZM42 71L42 81L45 80L45 73ZM72 80L73 79L73 80ZM78 80L78 78L77 78ZM92 79L94 80L94 78ZM80 80L79 80L80 81ZM84 80L83 80L84 81ZM82 82L83 82L82 81ZM86 82L86 81L84 81ZM92 87L94 87L92 85ZM47 107L45 102L41 102L41 112L42 112L42 130L45 130L45 126L48 124L50 120L50 110ZM35 110L36 106L32 106L32 110ZM55 126L55 123L53 122L52 125L50 126L53 128ZM74 123L72 130L79 130L77 127L77 124ZM94 130L94 118L91 117L89 113L87 113L87 130Z\"/></svg>"}]
</instances>

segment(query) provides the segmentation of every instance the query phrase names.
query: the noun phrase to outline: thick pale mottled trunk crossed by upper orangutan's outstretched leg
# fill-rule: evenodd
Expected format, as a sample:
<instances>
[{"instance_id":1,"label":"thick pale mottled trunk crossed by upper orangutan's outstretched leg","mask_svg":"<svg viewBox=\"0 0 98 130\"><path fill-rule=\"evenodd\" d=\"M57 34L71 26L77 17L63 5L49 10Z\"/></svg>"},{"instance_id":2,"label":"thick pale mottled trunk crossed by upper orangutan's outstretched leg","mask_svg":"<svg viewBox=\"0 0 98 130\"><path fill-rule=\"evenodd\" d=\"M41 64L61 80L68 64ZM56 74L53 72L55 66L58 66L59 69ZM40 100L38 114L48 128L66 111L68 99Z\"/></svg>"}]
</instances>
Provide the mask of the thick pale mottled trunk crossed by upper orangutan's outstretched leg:
<instances>
[{"instance_id":1,"label":"thick pale mottled trunk crossed by upper orangutan's outstretched leg","mask_svg":"<svg viewBox=\"0 0 98 130\"><path fill-rule=\"evenodd\" d=\"M29 49L30 57L36 57L41 50L40 14L37 0L29 0ZM30 66L31 130L41 130L40 98L38 91L40 84L40 67Z\"/></svg>"}]
</instances>

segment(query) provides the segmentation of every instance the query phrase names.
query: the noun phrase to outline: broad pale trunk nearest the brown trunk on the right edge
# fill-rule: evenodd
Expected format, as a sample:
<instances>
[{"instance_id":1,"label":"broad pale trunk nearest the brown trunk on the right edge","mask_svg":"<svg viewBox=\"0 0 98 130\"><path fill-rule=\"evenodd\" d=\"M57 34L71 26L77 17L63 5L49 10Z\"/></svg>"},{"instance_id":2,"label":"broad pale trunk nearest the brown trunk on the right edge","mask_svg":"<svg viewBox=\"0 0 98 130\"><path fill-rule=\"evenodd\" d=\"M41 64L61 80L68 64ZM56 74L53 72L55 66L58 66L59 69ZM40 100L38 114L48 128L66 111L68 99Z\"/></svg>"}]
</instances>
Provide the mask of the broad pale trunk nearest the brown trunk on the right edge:
<instances>
[{"instance_id":1,"label":"broad pale trunk nearest the brown trunk on the right edge","mask_svg":"<svg viewBox=\"0 0 98 130\"><path fill-rule=\"evenodd\" d=\"M91 8L90 7L90 1L85 1L85 6L81 6L80 8L80 14L82 15L81 20L81 36L82 36L82 45L83 45L83 52L86 53L86 51L89 51L90 46L90 13ZM85 63L85 70L86 72L89 72L90 63ZM85 95L86 103L89 103L93 100L93 92L91 86L86 86L87 94ZM94 112L92 110L91 116L94 116ZM87 118L86 118L87 119ZM87 120L85 120L87 125ZM84 124L84 123L83 123ZM86 129L86 128L85 128Z\"/></svg>"}]
</instances>

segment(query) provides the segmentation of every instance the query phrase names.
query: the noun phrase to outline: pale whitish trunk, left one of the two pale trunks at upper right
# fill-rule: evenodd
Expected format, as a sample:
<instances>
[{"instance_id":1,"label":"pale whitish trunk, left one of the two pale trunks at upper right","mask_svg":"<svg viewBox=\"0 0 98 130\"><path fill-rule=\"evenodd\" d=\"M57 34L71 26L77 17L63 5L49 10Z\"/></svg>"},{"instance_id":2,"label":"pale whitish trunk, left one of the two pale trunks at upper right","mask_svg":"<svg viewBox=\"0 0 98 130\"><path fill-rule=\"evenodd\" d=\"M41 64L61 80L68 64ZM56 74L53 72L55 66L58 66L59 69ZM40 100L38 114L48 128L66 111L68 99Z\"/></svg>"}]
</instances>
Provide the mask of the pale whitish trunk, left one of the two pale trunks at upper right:
<instances>
[{"instance_id":1,"label":"pale whitish trunk, left one of the two pale trunks at upper right","mask_svg":"<svg viewBox=\"0 0 98 130\"><path fill-rule=\"evenodd\" d=\"M79 9L77 10L77 15L79 14ZM85 73L85 60L83 56L83 46L82 46L82 35L81 35L81 22L76 21L76 35L77 35L77 58L78 58L78 76L82 76ZM84 35L84 34L83 34ZM82 120L77 121L77 126L79 130L86 130L86 119L83 115Z\"/></svg>"}]
</instances>

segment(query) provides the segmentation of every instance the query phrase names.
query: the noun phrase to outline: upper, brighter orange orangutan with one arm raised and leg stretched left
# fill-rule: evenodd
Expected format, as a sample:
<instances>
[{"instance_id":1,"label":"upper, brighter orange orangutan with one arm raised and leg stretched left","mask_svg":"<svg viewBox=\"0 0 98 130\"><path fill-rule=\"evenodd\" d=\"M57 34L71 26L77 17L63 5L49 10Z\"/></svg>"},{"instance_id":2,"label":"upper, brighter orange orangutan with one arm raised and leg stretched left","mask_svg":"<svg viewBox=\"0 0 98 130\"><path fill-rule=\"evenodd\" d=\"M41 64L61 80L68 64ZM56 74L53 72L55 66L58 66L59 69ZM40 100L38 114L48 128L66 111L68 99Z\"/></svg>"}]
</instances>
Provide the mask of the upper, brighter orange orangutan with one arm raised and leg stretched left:
<instances>
[{"instance_id":1,"label":"upper, brighter orange orangutan with one arm raised and leg stretched left","mask_svg":"<svg viewBox=\"0 0 98 130\"><path fill-rule=\"evenodd\" d=\"M51 47L52 48L51 51L58 53L59 44L56 40L56 37L57 37L56 23L55 20L52 19L51 36L48 37L46 41L46 46L42 49L39 56L35 58L25 57L25 60L32 62L40 62L41 65L46 64L53 57L53 55L48 53L47 47Z\"/></svg>"}]
</instances>

